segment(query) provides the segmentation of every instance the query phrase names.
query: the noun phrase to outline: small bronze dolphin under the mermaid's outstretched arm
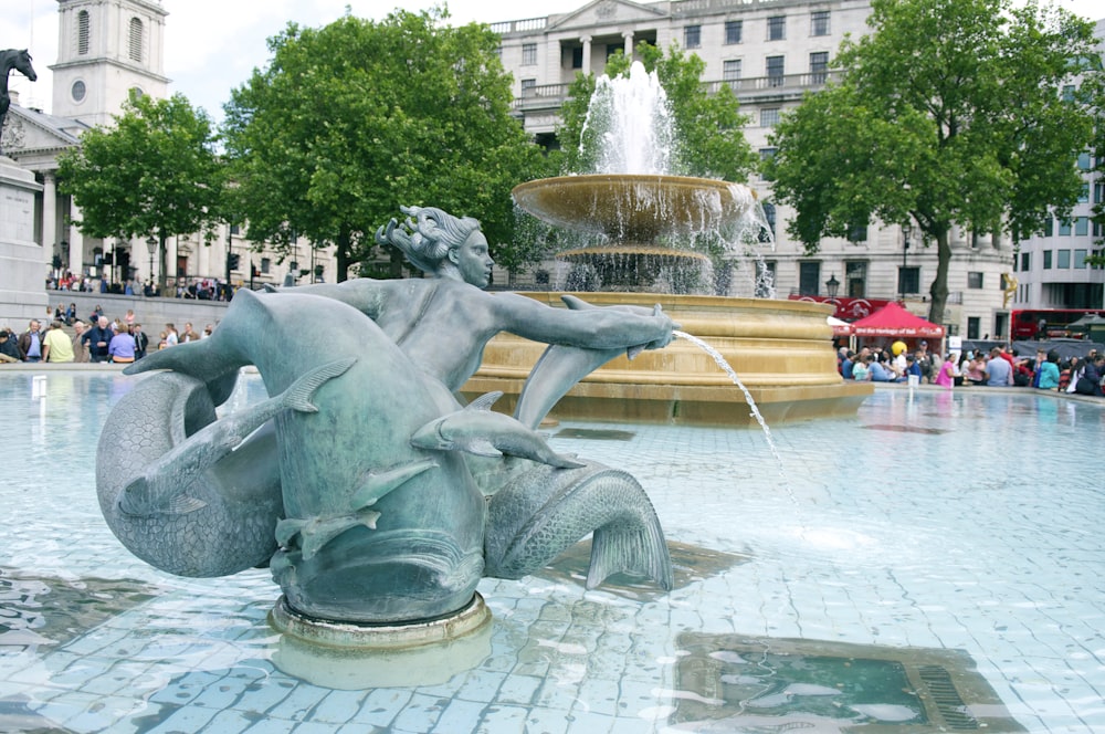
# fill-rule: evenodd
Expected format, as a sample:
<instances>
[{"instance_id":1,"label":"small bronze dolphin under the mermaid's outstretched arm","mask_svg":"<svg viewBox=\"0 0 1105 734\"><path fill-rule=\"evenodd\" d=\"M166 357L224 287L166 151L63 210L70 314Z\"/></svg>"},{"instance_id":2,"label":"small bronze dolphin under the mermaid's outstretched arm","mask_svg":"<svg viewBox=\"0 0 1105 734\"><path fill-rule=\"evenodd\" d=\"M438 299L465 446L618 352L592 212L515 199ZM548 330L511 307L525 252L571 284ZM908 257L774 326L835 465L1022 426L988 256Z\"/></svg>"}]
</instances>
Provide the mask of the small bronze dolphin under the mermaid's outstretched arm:
<instances>
[{"instance_id":1,"label":"small bronze dolphin under the mermaid's outstretched arm","mask_svg":"<svg viewBox=\"0 0 1105 734\"><path fill-rule=\"evenodd\" d=\"M411 444L436 451L467 451L481 457L522 457L549 466L575 469L578 461L552 451L540 436L509 416L492 412L501 390L473 400L466 408L430 421L411 437Z\"/></svg>"}]
</instances>

